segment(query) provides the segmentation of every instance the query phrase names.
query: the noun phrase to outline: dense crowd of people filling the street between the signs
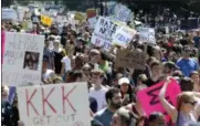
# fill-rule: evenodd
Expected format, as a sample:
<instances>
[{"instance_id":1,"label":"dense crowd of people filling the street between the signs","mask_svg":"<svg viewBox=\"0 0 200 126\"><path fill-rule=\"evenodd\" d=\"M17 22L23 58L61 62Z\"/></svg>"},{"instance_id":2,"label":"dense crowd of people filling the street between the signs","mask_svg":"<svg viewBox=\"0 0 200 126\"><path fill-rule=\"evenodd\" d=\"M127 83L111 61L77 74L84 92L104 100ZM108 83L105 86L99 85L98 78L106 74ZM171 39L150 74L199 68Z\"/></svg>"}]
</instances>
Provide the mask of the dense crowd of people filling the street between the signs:
<instances>
[{"instance_id":1,"label":"dense crowd of people filling the street between the signs","mask_svg":"<svg viewBox=\"0 0 200 126\"><path fill-rule=\"evenodd\" d=\"M1 27L2 31L24 32L21 23L6 21ZM84 23L64 24L62 32L55 24L34 23L33 29L25 32L45 35L42 85L87 82L92 126L189 126L200 122L200 30L172 32L166 39L158 38L165 34L156 33L155 45L139 42L136 34L129 44L134 50L146 52L145 70L115 67L116 53L124 48L113 45L105 51L95 46L91 43L93 30ZM24 69L34 69L29 62L30 55L25 57ZM177 106L165 97L172 80L181 90ZM158 98L170 116L170 124L161 112L147 116L137 98L139 91L161 81L165 84ZM1 90L2 126L22 126L18 95L10 103L9 87L3 85Z\"/></svg>"}]
</instances>

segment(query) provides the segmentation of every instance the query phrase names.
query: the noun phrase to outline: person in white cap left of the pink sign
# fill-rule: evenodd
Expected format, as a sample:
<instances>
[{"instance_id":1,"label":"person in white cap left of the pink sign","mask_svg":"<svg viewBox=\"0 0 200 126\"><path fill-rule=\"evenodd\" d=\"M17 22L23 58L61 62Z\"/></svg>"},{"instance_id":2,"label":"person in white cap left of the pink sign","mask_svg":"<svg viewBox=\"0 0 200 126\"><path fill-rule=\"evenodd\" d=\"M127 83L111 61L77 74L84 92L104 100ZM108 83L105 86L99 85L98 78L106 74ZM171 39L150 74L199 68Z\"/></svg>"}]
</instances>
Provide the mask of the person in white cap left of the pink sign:
<instances>
[{"instance_id":1,"label":"person in white cap left of the pink sign","mask_svg":"<svg viewBox=\"0 0 200 126\"><path fill-rule=\"evenodd\" d=\"M120 94L122 94L122 98L123 98L123 104L127 105L129 103L131 103L131 97L133 97L133 91L131 91L131 86L130 86L130 81L128 77L122 77L118 80L118 85L120 88Z\"/></svg>"}]
</instances>

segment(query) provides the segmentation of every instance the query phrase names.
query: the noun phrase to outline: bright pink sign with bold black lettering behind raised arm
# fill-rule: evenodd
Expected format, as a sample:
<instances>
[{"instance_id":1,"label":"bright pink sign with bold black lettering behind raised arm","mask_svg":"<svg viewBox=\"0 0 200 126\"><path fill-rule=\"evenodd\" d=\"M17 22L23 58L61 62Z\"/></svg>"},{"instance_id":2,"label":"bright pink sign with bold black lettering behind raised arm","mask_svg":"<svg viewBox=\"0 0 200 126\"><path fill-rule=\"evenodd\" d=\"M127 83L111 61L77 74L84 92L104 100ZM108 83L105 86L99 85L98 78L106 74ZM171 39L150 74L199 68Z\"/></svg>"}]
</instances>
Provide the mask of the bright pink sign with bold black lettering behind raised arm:
<instances>
[{"instance_id":1,"label":"bright pink sign with bold black lettering behind raised arm","mask_svg":"<svg viewBox=\"0 0 200 126\"><path fill-rule=\"evenodd\" d=\"M151 87L141 90L137 93L137 99L140 102L143 109L149 116L152 112L161 112L167 122L169 122L169 115L162 107L158 95L165 82L160 82ZM180 87L176 80L172 80L166 91L166 99L172 104L177 105L177 95L180 93Z\"/></svg>"}]
</instances>

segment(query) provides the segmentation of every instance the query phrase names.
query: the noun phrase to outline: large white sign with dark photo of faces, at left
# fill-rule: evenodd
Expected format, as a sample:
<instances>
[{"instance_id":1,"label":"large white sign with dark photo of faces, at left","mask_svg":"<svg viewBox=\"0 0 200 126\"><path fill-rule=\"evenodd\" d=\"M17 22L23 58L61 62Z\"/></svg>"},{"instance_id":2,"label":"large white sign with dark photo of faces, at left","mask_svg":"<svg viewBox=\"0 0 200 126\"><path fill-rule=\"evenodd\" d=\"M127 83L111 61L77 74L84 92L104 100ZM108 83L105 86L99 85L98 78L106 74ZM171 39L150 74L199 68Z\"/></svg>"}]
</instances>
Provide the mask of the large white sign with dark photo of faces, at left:
<instances>
[{"instance_id":1,"label":"large white sign with dark photo of faces, at left","mask_svg":"<svg viewBox=\"0 0 200 126\"><path fill-rule=\"evenodd\" d=\"M2 84L40 84L44 36L6 32Z\"/></svg>"}]
</instances>

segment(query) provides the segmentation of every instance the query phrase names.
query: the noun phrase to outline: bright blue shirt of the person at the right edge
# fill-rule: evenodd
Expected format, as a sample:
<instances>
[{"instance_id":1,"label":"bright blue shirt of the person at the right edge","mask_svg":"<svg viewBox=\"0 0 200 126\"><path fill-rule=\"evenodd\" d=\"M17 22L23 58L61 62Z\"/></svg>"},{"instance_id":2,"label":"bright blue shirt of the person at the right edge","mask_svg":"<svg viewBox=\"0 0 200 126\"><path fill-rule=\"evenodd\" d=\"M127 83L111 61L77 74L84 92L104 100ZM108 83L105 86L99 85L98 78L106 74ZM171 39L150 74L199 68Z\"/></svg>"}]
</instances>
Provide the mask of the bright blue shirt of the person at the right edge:
<instances>
[{"instance_id":1,"label":"bright blue shirt of the person at the right edge","mask_svg":"<svg viewBox=\"0 0 200 126\"><path fill-rule=\"evenodd\" d=\"M191 72L199 69L199 64L194 59L180 59L177 61L177 65L185 76L189 76Z\"/></svg>"}]
</instances>

